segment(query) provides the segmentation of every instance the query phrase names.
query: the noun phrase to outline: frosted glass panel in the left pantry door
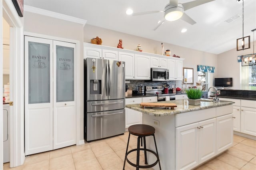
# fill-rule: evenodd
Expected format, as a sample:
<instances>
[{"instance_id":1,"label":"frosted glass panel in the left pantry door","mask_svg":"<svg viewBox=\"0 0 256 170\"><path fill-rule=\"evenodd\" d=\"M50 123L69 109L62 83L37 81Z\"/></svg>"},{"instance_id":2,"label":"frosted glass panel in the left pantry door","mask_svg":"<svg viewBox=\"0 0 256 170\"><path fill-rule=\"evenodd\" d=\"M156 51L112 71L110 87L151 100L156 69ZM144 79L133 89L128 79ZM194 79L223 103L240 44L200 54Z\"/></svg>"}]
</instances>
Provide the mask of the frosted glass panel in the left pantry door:
<instances>
[{"instance_id":1,"label":"frosted glass panel in the left pantry door","mask_svg":"<svg viewBox=\"0 0 256 170\"><path fill-rule=\"evenodd\" d=\"M28 103L50 103L50 44L28 42Z\"/></svg>"}]
</instances>

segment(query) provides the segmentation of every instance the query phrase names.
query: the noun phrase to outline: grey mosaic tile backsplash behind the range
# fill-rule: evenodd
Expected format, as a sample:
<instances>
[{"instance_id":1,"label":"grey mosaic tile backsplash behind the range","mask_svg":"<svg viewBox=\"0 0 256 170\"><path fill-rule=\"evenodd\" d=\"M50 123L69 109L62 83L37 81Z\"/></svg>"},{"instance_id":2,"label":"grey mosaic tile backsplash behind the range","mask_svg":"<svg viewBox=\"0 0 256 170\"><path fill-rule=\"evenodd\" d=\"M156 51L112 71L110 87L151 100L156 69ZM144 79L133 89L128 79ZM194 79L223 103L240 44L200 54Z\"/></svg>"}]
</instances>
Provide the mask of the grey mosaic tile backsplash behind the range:
<instances>
[{"instance_id":1,"label":"grey mosaic tile backsplash behind the range","mask_svg":"<svg viewBox=\"0 0 256 170\"><path fill-rule=\"evenodd\" d=\"M126 83L128 85L128 89L130 90L137 90L138 85L144 85L144 86L157 86L157 85L163 85L164 83L167 83L172 87L172 85L175 87L175 81L163 81L163 82L157 82L157 81L144 81L144 80L129 80L130 83Z\"/></svg>"}]
</instances>

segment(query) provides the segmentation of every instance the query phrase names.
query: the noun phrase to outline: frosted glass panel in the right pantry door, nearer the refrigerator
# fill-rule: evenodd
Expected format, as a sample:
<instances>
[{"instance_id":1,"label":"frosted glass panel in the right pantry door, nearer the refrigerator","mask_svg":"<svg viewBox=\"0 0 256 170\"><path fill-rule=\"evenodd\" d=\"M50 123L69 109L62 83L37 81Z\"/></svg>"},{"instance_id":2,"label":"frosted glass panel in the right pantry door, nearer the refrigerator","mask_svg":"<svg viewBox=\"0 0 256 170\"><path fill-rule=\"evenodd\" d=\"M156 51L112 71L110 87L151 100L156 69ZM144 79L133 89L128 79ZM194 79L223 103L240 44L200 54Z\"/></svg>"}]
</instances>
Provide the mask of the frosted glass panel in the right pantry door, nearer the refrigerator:
<instances>
[{"instance_id":1,"label":"frosted glass panel in the right pantry door, nearer the refrigerator","mask_svg":"<svg viewBox=\"0 0 256 170\"><path fill-rule=\"evenodd\" d=\"M74 101L74 48L56 45L56 102Z\"/></svg>"}]
</instances>

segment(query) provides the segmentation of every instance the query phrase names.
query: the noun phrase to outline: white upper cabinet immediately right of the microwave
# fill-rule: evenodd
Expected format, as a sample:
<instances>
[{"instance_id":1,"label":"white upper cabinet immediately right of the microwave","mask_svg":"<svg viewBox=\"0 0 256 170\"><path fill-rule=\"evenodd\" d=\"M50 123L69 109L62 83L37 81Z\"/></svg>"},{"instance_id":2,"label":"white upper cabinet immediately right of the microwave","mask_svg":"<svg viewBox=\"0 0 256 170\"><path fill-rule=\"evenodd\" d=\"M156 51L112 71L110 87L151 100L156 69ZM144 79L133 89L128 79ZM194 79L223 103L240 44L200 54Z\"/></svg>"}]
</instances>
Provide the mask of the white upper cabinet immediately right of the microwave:
<instances>
[{"instance_id":1,"label":"white upper cabinet immediately right of the microwave","mask_svg":"<svg viewBox=\"0 0 256 170\"><path fill-rule=\"evenodd\" d=\"M169 80L182 80L182 60L168 59Z\"/></svg>"}]
</instances>

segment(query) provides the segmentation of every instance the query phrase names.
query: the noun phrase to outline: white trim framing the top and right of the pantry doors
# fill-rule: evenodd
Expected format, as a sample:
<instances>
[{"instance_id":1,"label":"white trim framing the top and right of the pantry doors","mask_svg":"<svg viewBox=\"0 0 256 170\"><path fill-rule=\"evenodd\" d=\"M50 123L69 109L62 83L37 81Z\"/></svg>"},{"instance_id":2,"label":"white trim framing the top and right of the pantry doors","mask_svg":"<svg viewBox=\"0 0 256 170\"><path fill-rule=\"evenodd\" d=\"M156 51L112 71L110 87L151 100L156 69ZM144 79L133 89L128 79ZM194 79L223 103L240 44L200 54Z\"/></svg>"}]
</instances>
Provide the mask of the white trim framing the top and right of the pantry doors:
<instances>
[{"instance_id":1,"label":"white trim framing the top and right of the pantry doors","mask_svg":"<svg viewBox=\"0 0 256 170\"><path fill-rule=\"evenodd\" d=\"M50 40L56 40L56 41L63 41L63 42L70 42L70 43L75 43L76 44L76 60L75 60L75 88L76 88L76 94L75 94L75 99L76 99L76 145L81 145L84 144L84 140L80 140L80 136L79 134L81 133L81 131L83 130L80 129L81 126L81 121L80 121L80 112L81 109L79 108L79 106L83 103L80 102L80 96L83 94L80 94L80 87L79 87L79 77L80 77L80 68L79 66L79 55L80 55L80 42L78 40L71 40L71 39L67 39L67 38L60 38L60 37L55 37L55 36L48 36L48 35L44 35L44 34L36 34L36 33L32 33L32 32L24 32L24 36L33 36L33 37L38 37L38 38L46 38L46 39L50 39ZM83 126L82 126L83 127ZM82 132L83 133L83 132Z\"/></svg>"}]
</instances>

